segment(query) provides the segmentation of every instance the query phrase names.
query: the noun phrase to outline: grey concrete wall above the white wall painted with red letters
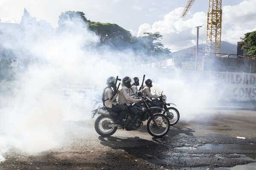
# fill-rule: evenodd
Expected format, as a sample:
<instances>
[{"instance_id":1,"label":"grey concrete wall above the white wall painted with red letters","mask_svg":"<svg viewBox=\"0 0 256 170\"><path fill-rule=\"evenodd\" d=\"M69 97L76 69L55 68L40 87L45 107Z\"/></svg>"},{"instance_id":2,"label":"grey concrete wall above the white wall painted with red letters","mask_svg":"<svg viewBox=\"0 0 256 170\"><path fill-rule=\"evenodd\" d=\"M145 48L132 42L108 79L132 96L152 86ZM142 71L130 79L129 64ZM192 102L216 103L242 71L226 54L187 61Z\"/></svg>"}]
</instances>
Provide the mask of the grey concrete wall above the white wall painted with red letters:
<instances>
[{"instance_id":1,"label":"grey concrete wall above the white wall painted with red letters","mask_svg":"<svg viewBox=\"0 0 256 170\"><path fill-rule=\"evenodd\" d=\"M240 58L203 57L204 71L256 73L256 60Z\"/></svg>"}]
</instances>

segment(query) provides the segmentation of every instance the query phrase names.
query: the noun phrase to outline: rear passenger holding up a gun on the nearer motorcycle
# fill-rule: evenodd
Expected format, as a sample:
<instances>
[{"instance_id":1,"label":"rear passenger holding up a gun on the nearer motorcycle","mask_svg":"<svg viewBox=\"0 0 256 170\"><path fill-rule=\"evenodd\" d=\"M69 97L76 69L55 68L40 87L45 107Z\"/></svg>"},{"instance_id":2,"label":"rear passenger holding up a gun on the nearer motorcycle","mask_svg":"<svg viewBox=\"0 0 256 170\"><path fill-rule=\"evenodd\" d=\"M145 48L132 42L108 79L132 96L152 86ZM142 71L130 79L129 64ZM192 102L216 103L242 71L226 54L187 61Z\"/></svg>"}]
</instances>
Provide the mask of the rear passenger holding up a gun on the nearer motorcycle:
<instances>
[{"instance_id":1,"label":"rear passenger holding up a gun on the nearer motorcycle","mask_svg":"<svg viewBox=\"0 0 256 170\"><path fill-rule=\"evenodd\" d=\"M107 87L104 89L102 94L102 100L103 105L105 105L107 108L111 108L111 111L115 113L119 113L119 116L121 113L125 113L127 111L127 106L119 104L116 102L116 97L119 94L119 90L117 89L116 94L114 94L114 91L112 88L114 88L116 82L116 78L114 77L108 77L107 79ZM117 124L119 124L119 118L117 118Z\"/></svg>"}]
</instances>

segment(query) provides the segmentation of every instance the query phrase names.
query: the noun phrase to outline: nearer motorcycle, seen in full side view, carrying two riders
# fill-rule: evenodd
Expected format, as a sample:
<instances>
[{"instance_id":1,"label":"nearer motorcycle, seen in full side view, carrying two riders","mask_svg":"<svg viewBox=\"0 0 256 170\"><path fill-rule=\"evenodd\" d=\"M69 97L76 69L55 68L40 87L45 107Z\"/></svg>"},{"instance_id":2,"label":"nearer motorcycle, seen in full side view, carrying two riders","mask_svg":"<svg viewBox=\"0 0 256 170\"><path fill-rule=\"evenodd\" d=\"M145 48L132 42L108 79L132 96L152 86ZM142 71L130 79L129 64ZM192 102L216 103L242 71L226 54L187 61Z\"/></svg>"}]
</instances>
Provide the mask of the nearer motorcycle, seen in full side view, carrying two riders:
<instances>
[{"instance_id":1,"label":"nearer motorcycle, seen in full side view, carrying two riders","mask_svg":"<svg viewBox=\"0 0 256 170\"><path fill-rule=\"evenodd\" d=\"M125 118L122 120L123 125L119 125L115 123L119 114L111 111L111 109L102 106L91 111L91 119L96 114L100 115L96 118L96 121L94 123L94 128L96 132L101 136L111 136L116 132L118 128L128 131L138 130L143 125L143 122L147 120L147 131L151 136L157 138L165 136L170 128L169 119L165 114L162 114L165 112L165 110L159 107L149 107L148 99L143 99L143 102L137 102L132 104L141 113L140 118L135 122L134 125L132 125L132 122L135 115L131 113L127 113L125 115Z\"/></svg>"}]
</instances>

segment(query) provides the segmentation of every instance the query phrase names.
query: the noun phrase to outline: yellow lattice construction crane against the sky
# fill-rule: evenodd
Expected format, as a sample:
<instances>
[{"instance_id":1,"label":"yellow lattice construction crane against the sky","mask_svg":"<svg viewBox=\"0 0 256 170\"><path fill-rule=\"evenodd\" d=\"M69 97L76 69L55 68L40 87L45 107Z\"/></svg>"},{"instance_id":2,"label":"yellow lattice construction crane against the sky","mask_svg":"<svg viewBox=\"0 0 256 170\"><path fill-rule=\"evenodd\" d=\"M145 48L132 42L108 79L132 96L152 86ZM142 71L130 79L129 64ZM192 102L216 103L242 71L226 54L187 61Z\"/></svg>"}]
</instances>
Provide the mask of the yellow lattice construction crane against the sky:
<instances>
[{"instance_id":1,"label":"yellow lattice construction crane against the sky","mask_svg":"<svg viewBox=\"0 0 256 170\"><path fill-rule=\"evenodd\" d=\"M185 17L195 0L188 0L180 17ZM220 56L221 53L221 0L209 0L205 56Z\"/></svg>"}]
</instances>

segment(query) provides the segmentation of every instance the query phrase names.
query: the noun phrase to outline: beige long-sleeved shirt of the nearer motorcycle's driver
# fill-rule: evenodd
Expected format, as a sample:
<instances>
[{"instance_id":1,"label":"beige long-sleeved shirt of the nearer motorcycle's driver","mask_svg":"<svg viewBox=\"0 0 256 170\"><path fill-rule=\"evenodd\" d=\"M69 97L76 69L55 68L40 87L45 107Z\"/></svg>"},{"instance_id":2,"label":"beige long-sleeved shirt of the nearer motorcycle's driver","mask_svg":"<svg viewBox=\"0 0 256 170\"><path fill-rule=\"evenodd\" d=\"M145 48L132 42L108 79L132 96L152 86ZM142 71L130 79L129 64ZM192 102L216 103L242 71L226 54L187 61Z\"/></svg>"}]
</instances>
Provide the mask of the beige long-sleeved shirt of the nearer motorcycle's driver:
<instances>
[{"instance_id":1,"label":"beige long-sleeved shirt of the nearer motorcycle's driver","mask_svg":"<svg viewBox=\"0 0 256 170\"><path fill-rule=\"evenodd\" d=\"M120 92L118 94L118 103L120 104L126 104L127 106L131 105L130 102L140 102L140 99L134 99L129 95L129 89L122 85Z\"/></svg>"}]
</instances>

